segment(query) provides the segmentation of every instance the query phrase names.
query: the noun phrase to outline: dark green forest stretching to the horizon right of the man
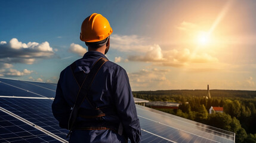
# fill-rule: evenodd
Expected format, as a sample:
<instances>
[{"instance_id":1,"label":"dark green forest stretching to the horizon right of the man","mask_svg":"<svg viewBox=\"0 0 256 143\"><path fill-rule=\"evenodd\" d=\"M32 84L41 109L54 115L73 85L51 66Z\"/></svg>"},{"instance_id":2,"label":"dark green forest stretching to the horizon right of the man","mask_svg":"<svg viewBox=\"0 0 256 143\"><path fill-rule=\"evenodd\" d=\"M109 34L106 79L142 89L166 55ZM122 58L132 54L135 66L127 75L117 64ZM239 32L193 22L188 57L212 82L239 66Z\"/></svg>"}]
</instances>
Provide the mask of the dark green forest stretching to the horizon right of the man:
<instances>
[{"instance_id":1,"label":"dark green forest stretching to the horizon right of the man","mask_svg":"<svg viewBox=\"0 0 256 143\"><path fill-rule=\"evenodd\" d=\"M178 110L166 113L236 133L236 142L256 142L256 91L211 90L137 91L134 97L149 101L180 102ZM209 108L223 107L224 113L209 114Z\"/></svg>"}]
</instances>

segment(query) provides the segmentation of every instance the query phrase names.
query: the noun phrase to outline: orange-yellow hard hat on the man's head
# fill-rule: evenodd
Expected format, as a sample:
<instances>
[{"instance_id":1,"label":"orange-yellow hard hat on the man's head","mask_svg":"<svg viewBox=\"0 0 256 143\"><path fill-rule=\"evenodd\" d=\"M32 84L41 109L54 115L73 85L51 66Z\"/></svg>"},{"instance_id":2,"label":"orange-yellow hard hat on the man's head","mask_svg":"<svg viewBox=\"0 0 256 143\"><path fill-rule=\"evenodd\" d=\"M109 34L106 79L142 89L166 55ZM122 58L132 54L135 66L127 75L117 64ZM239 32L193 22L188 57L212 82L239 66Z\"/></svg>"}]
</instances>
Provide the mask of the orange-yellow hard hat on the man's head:
<instances>
[{"instance_id":1,"label":"orange-yellow hard hat on the man's head","mask_svg":"<svg viewBox=\"0 0 256 143\"><path fill-rule=\"evenodd\" d=\"M98 42L106 39L112 32L109 21L103 15L93 13L83 21L80 39L84 42Z\"/></svg>"}]
</instances>

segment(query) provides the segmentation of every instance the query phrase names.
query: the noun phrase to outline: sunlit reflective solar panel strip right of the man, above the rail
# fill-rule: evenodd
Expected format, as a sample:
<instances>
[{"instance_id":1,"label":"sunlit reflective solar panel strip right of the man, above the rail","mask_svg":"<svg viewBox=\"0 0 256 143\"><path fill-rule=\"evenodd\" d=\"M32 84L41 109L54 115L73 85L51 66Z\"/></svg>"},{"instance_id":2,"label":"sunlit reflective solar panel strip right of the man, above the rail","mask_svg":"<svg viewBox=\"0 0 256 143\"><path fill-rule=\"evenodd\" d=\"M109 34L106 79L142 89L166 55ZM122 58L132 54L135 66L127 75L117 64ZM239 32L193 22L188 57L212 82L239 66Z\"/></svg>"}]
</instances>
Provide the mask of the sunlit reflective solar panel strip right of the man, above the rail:
<instances>
[{"instance_id":1,"label":"sunlit reflective solar panel strip right of the man, above the rail","mask_svg":"<svg viewBox=\"0 0 256 143\"><path fill-rule=\"evenodd\" d=\"M186 140L190 139L190 141L193 142L234 142L233 135L220 132L226 132L226 130L215 131L208 129L208 126L202 127L197 122L186 122L186 120L181 117L162 112L159 112L161 113L159 114L152 111L152 109L147 107L137 106L141 126L146 130L151 130L151 132L158 135L160 134L172 141L182 142L180 139L184 139L184 142L188 142ZM172 134L168 134L169 132L172 132ZM188 136L189 138L181 138L181 136ZM200 138L198 138L198 136L200 136Z\"/></svg>"}]
</instances>

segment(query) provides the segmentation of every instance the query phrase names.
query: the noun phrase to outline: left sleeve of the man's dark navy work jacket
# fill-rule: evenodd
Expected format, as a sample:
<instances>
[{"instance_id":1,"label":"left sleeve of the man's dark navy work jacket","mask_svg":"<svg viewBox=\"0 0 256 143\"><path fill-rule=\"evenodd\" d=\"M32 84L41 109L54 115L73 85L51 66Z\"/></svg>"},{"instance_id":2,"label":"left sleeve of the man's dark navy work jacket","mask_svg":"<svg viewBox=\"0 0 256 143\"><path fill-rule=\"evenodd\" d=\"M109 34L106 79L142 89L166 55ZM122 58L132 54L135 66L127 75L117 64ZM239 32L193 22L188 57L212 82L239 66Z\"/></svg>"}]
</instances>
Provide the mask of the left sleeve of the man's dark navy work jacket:
<instances>
[{"instance_id":1,"label":"left sleeve of the man's dark navy work jacket","mask_svg":"<svg viewBox=\"0 0 256 143\"><path fill-rule=\"evenodd\" d=\"M67 123L69 122L70 106L67 104L63 97L63 92L61 90L61 74L58 80L57 89L53 104L51 108L53 110L53 115L55 119L58 120L60 128L67 129Z\"/></svg>"}]
</instances>

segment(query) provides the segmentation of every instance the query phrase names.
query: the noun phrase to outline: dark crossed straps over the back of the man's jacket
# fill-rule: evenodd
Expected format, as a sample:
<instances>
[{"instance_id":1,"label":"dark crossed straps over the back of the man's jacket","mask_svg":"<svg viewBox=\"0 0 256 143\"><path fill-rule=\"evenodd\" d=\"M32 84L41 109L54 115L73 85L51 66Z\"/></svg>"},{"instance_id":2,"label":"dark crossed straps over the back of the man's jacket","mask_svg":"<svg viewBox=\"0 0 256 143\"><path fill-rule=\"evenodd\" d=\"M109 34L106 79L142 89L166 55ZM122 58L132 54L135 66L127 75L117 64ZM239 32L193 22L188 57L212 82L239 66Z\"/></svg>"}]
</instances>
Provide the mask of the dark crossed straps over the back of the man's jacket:
<instances>
[{"instance_id":1,"label":"dark crossed straps over the back of the man's jacket","mask_svg":"<svg viewBox=\"0 0 256 143\"><path fill-rule=\"evenodd\" d=\"M106 58L99 58L94 63L90 72L85 77L84 81L82 82L82 85L79 86L78 95L76 96L75 104L74 104L73 109L72 109L72 111L70 113L70 116L69 116L69 123L68 123L69 133L67 134L67 138L69 137L70 133L72 132L72 130L74 128L76 117L78 117L78 110L79 110L82 102L85 99L87 99L87 101L90 103L91 107L95 108L95 103L92 102L92 100L91 100L92 97L88 98L88 91L90 91L91 84L94 80L94 77L96 76L96 74L100 70L101 66L103 66L104 63L106 63L106 61L108 61ZM75 69L75 67L76 67L75 62L70 65L72 73L73 73L73 70ZM75 77L74 73L73 73L73 76ZM76 77L75 77L75 80L76 80ZM76 80L76 82L77 82L77 80Z\"/></svg>"}]
</instances>

